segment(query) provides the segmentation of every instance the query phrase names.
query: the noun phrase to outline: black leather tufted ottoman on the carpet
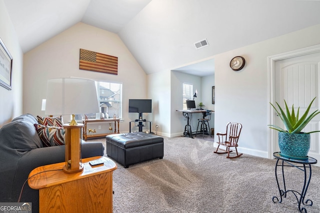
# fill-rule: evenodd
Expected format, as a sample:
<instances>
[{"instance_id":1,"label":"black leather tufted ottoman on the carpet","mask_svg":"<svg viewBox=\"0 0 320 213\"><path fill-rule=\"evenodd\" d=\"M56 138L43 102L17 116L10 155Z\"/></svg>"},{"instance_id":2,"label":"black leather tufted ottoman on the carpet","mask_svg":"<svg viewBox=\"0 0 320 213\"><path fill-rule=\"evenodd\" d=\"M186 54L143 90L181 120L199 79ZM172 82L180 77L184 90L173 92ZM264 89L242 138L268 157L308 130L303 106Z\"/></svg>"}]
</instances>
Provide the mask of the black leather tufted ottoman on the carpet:
<instances>
[{"instance_id":1,"label":"black leather tufted ottoman on the carpet","mask_svg":"<svg viewBox=\"0 0 320 213\"><path fill-rule=\"evenodd\" d=\"M128 168L129 165L163 158L163 138L143 132L105 136L106 155Z\"/></svg>"}]
</instances>

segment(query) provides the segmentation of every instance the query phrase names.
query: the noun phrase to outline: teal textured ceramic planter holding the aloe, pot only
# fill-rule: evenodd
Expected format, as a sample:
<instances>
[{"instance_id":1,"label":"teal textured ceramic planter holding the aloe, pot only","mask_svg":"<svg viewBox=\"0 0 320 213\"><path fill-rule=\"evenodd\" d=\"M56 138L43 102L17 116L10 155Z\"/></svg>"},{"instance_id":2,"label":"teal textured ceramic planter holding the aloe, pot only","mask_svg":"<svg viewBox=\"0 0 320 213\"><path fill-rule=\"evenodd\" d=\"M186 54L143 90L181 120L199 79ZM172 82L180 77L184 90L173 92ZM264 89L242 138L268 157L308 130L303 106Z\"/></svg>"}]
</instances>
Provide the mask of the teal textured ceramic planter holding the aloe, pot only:
<instances>
[{"instance_id":1,"label":"teal textured ceramic planter holding the aloe, pot only","mask_svg":"<svg viewBox=\"0 0 320 213\"><path fill-rule=\"evenodd\" d=\"M280 155L287 158L306 160L310 149L310 134L278 133Z\"/></svg>"}]
</instances>

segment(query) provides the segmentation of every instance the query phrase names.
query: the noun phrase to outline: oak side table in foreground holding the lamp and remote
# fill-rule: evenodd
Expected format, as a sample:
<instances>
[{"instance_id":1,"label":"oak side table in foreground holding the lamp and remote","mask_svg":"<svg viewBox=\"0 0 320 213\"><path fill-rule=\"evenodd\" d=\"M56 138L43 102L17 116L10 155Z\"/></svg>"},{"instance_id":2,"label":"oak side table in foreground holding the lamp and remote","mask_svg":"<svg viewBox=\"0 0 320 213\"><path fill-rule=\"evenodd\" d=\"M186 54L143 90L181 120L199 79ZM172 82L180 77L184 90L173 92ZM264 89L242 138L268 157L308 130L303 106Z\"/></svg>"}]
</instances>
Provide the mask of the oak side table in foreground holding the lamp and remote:
<instances>
[{"instance_id":1,"label":"oak side table in foreground holding the lamp and remote","mask_svg":"<svg viewBox=\"0 0 320 213\"><path fill-rule=\"evenodd\" d=\"M101 159L104 164L90 166ZM40 213L112 213L112 173L116 164L106 157L82 159L83 171L66 174L64 162L37 167L28 185L39 190Z\"/></svg>"}]
</instances>

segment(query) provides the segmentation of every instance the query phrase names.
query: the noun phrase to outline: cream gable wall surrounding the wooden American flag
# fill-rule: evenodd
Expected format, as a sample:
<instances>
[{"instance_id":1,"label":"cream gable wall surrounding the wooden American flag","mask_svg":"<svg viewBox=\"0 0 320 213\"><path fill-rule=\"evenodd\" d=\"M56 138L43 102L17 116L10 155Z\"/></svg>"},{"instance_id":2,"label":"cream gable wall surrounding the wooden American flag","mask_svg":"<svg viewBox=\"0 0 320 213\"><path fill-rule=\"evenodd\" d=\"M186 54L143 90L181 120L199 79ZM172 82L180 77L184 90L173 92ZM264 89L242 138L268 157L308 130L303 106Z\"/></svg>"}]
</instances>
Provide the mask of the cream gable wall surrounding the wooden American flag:
<instances>
[{"instance_id":1,"label":"cream gable wall surrounding the wooden American flag","mask_svg":"<svg viewBox=\"0 0 320 213\"><path fill-rule=\"evenodd\" d=\"M80 48L117 56L118 74L80 70ZM44 116L41 100L46 95L46 81L51 78L72 76L122 83L124 122L120 123L120 132L127 132L129 120L137 118L134 113L128 113L128 99L147 96L146 74L118 35L81 22L25 53L23 68L23 112L35 116ZM83 98L82 104L89 103Z\"/></svg>"}]
</instances>

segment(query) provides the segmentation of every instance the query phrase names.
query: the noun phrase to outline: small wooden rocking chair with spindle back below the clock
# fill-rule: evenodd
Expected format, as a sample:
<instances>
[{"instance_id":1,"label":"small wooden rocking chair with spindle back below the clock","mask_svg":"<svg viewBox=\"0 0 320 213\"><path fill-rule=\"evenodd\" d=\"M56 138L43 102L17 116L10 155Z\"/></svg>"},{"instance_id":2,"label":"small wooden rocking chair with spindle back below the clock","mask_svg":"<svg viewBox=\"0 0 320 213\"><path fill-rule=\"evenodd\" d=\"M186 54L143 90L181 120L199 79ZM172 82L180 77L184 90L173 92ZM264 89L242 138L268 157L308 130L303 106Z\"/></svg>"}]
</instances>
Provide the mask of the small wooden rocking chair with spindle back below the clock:
<instances>
[{"instance_id":1,"label":"small wooden rocking chair with spindle back below the clock","mask_svg":"<svg viewBox=\"0 0 320 213\"><path fill-rule=\"evenodd\" d=\"M226 158L240 157L242 153L238 154L236 147L238 146L238 140L239 140L241 129L242 129L242 125L239 123L232 123L232 122L227 123L225 133L216 133L216 135L218 136L219 142L217 142L218 147L216 148L214 153L217 153L217 154L227 153L228 156ZM220 145L225 146L226 150L219 149ZM230 157L230 152L232 152L232 150L230 150L230 147L235 148L236 156ZM222 152L218 152L218 150Z\"/></svg>"}]
</instances>

